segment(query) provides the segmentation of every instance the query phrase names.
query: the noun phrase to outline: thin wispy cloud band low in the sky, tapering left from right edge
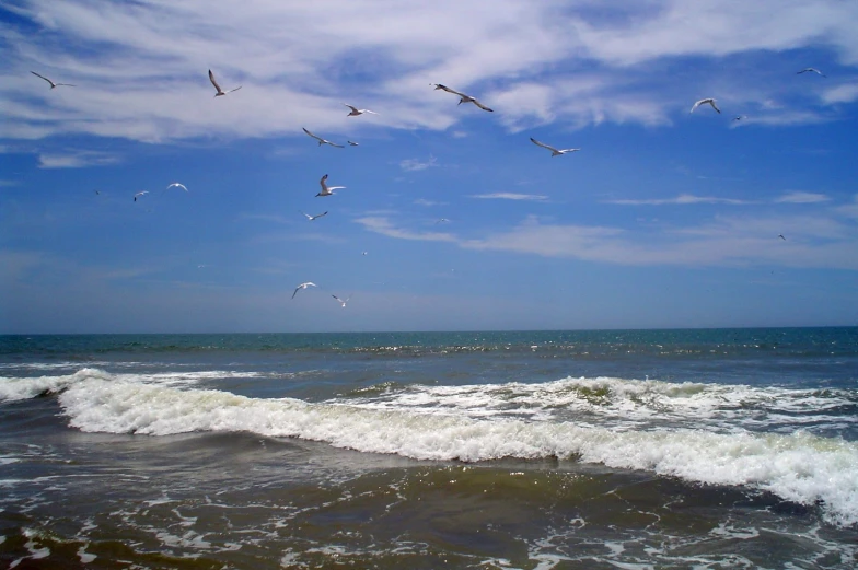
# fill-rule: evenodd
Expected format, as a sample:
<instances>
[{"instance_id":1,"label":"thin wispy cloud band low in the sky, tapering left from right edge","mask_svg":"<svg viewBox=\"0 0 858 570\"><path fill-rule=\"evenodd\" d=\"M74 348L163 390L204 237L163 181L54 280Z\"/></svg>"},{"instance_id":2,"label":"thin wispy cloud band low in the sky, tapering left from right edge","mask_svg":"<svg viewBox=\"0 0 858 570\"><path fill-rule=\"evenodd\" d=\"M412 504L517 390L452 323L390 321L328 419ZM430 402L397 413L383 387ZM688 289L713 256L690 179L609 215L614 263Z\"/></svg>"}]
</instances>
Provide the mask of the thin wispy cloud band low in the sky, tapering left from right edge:
<instances>
[{"instance_id":1,"label":"thin wispy cloud band low in the sky, tapering left from right edge","mask_svg":"<svg viewBox=\"0 0 858 570\"><path fill-rule=\"evenodd\" d=\"M848 214L844 211L843 213ZM716 217L708 223L631 232L603 225L544 224L525 218L482 239L394 228L386 218L359 223L389 237L453 242L467 249L568 257L629 266L743 266L858 269L858 229L831 217ZM778 239L779 234L787 241Z\"/></svg>"}]
</instances>

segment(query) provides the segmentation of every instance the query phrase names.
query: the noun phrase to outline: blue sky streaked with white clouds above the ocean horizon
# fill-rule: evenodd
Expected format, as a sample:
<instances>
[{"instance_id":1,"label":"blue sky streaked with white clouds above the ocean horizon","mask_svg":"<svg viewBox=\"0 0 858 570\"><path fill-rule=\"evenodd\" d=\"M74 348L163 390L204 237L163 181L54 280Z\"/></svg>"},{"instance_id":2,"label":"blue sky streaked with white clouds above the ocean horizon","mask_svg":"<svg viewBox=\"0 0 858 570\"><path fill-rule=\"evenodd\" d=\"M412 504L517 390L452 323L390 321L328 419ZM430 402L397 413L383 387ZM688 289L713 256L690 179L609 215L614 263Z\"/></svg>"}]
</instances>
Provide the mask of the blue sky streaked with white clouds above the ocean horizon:
<instances>
[{"instance_id":1,"label":"blue sky streaked with white clouds above the ocean horizon","mask_svg":"<svg viewBox=\"0 0 858 570\"><path fill-rule=\"evenodd\" d=\"M11 0L0 25L0 333L858 324L856 2Z\"/></svg>"}]
</instances>

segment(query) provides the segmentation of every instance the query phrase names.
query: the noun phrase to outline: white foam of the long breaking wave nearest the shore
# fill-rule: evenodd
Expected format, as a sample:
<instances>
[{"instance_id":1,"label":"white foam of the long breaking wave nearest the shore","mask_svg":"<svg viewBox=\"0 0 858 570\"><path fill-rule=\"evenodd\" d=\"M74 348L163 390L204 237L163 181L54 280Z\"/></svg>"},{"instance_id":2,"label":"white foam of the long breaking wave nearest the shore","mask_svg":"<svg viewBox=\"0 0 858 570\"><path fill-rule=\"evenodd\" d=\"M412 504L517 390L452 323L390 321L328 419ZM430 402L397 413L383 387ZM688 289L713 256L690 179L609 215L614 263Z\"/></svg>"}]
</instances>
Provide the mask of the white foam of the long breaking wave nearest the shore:
<instances>
[{"instance_id":1,"label":"white foam of the long breaking wave nearest the shore","mask_svg":"<svg viewBox=\"0 0 858 570\"><path fill-rule=\"evenodd\" d=\"M59 403L71 426L84 431L151 435L248 431L418 460L573 457L703 484L747 485L802 504L821 500L830 521L858 523L858 444L805 432L618 431L569 421L473 418L454 410L439 415L254 399L98 377L69 386Z\"/></svg>"}]
</instances>

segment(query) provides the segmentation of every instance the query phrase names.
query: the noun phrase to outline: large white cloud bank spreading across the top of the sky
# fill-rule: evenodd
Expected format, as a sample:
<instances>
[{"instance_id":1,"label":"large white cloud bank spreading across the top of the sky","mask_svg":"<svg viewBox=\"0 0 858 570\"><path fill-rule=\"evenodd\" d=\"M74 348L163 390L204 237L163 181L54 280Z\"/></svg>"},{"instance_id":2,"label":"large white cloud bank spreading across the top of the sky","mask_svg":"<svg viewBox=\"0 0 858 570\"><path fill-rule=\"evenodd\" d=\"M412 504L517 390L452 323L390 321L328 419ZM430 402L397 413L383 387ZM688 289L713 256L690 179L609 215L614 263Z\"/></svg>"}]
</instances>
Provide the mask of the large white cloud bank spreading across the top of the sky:
<instances>
[{"instance_id":1,"label":"large white cloud bank spreading across the top of the sky","mask_svg":"<svg viewBox=\"0 0 858 570\"><path fill-rule=\"evenodd\" d=\"M468 114L429 88L441 80L485 100L511 130L558 120L669 125L693 101L697 88L688 85L696 82L648 65L820 45L858 62L858 4L838 0L497 0L490 9L437 0L389 10L371 0L256 0L252 10L213 0L20 0L5 9L38 26L32 34L9 22L2 27L0 104L10 139L297 137L308 125L345 138L367 126L343 121L340 93L352 88L361 106L384 110L371 128L443 130ZM209 68L224 86L243 89L215 100ZM710 74L699 68L700 77ZM78 88L45 89L30 69ZM356 86L356 73L371 80ZM804 88L785 86L791 79L698 88L727 91L726 103L765 102ZM823 101L856 97L854 85L843 85ZM787 106L749 121L831 118Z\"/></svg>"}]
</instances>

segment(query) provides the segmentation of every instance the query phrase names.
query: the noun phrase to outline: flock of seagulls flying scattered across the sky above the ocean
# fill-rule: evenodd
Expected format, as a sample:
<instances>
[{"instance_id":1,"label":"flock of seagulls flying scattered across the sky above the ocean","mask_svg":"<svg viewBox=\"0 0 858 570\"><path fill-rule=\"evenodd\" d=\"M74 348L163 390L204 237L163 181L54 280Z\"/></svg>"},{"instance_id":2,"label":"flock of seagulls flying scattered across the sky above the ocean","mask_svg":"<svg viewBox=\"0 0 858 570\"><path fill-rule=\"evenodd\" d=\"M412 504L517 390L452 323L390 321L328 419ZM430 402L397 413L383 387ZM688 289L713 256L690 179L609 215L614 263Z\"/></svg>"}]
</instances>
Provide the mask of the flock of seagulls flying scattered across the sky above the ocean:
<instances>
[{"instance_id":1,"label":"flock of seagulls flying scattered across the sky above the ocean","mask_svg":"<svg viewBox=\"0 0 858 570\"><path fill-rule=\"evenodd\" d=\"M218 81L215 79L215 73L212 73L212 71L210 69L208 71L209 71L208 72L209 81L211 81L211 84L215 86L215 90L216 90L216 93L215 93L216 97L224 96L224 95L227 95L229 93L233 93L233 92L239 91L240 89L242 89L242 85L239 85L237 88L233 88L233 89L224 91L220 86ZM69 88L76 86L76 85L73 85L71 83L58 83L58 82L55 82L51 79L46 78L45 75L40 75L40 74L36 73L35 71L31 71L31 73L33 73L35 77L37 77L39 79L43 79L43 80L47 81L48 84L50 85L51 90L56 89L56 88L59 88L59 86L69 86ZM802 74L802 73L816 73L820 77L823 77L823 78L826 77L824 73L822 73L820 70L818 70L815 68L805 68L805 69L802 69L801 71L797 72L797 74ZM494 113L494 109L489 108L488 106L486 106L482 102L479 102L476 97L473 97L473 96L471 96L471 95L468 95L466 93L463 93L461 91L456 91L454 89L451 89L451 88L449 88L449 86L447 86L447 85L444 85L442 83L431 83L431 85L434 85L436 91L440 90L440 91L444 91L447 93L452 93L453 95L457 95L459 96L457 105L461 105L462 103L473 103L475 106L477 106L478 108L480 108L483 110L486 110L488 113ZM363 114L378 115L378 113L375 113L374 110L370 110L370 109L366 109L366 108L359 108L359 107L356 107L353 105L349 105L348 103L344 103L344 105L349 108L349 113L347 115L348 117L357 117L357 116L360 116L360 115L363 115ZM716 105L716 100L714 97L705 97L705 98L702 98L702 100L695 102L694 105L692 106L691 113L694 113L695 109L697 109L698 107L704 106L704 105L709 105L718 114L721 114L721 109L719 109L718 106ZM746 118L745 115L738 115L738 116L733 117L733 120L738 121L738 120L743 120L745 118ZM309 137L312 137L316 141L318 141L318 146L320 147L322 147L323 144L328 144L331 147L335 147L335 148L338 148L338 149L345 148L343 144L338 144L336 142L333 142L333 141L329 141L327 139L324 139L324 138L322 138L322 137L320 137L317 135L314 135L313 132L311 132L310 130L308 130L304 127L302 127L302 130ZM552 152L552 158L554 158L554 156L561 156L564 154L569 154L569 153L578 152L578 151L581 150L581 149L577 149L577 148L576 149L557 149L555 147L552 147L550 144L546 144L544 142L540 142L538 140L534 139L533 137L531 137L531 142L533 142L537 147L542 147L543 149L549 150ZM357 147L358 146L357 142L353 142L353 141L350 141L350 140L347 141L347 144L349 147ZM327 185L327 178L328 178L328 175L325 174L318 181L318 185L321 186L322 189L320 190L318 194L316 194L316 197L333 196L334 195L334 190L346 188L345 186L328 186ZM183 189L186 193L188 191L187 187L184 184L178 183L178 182L171 183L165 188L164 191L169 190L170 188L181 188L181 189ZM98 195L101 193L98 190L95 190L95 194ZM137 194L134 195L134 201L137 201L138 198L141 198L141 197L146 196L147 194L149 194L148 190L138 191ZM308 219L308 221L312 222L312 221L315 221L315 220L317 220L317 219L320 219L320 218L322 218L324 216L327 216L328 212L324 211L324 212L315 214L315 216L310 216L308 213L304 213L303 211L301 213ZM449 222L449 220L445 219L445 218L441 218L441 219L439 219L436 222L436 224L444 223L444 222ZM780 240L786 241L786 237L784 237L782 234L778 234L778 237ZM363 252L362 255L367 255L367 252ZM200 267L202 267L202 266L200 266ZM294 291L292 292L292 299L295 298L295 295L298 294L299 291L302 291L302 290L308 289L310 287L317 288L318 286L313 283L312 281L303 282L303 283L299 284L298 287L295 287ZM348 301L351 299L351 295L347 296L345 300L340 299L339 296L337 296L335 294L332 294L331 296L334 298L340 304L340 306L343 306L344 309L346 307L346 303L348 303Z\"/></svg>"}]
</instances>

